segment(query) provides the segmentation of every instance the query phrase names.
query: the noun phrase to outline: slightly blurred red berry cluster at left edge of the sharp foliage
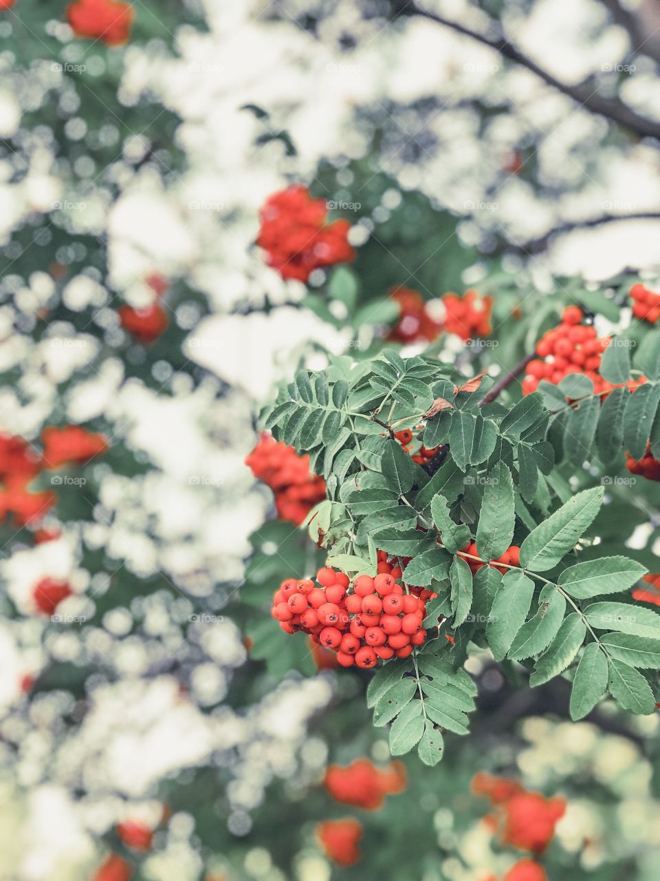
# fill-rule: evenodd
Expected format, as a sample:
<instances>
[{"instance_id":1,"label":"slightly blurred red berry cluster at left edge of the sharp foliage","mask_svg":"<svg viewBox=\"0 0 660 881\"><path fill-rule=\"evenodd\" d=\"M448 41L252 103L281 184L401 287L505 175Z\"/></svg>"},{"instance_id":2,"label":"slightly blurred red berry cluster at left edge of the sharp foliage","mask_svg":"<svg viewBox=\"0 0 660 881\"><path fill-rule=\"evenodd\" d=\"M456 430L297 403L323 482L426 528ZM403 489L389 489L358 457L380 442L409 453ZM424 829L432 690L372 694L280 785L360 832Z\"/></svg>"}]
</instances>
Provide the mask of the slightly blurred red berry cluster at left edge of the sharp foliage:
<instances>
[{"instance_id":1,"label":"slightly blurred red berry cluster at left edge of the sharp foliage","mask_svg":"<svg viewBox=\"0 0 660 881\"><path fill-rule=\"evenodd\" d=\"M275 492L275 509L282 520L299 526L312 507L326 498L326 481L310 472L310 457L297 455L293 447L275 441L268 432L261 434L246 456L246 465Z\"/></svg>"}]
</instances>

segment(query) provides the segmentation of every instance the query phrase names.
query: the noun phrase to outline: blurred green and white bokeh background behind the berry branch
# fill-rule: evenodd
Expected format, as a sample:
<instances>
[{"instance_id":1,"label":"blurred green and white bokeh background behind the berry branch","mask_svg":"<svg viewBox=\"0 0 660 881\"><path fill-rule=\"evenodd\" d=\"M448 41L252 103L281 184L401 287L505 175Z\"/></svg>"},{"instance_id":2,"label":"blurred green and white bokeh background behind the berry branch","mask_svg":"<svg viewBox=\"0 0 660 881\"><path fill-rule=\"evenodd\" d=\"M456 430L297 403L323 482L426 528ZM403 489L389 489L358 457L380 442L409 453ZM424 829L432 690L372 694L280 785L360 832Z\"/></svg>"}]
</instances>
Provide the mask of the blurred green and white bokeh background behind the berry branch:
<instances>
[{"instance_id":1,"label":"blurred green and white bokeh background behind the berry branch","mask_svg":"<svg viewBox=\"0 0 660 881\"><path fill-rule=\"evenodd\" d=\"M110 2L77 0L92 24ZM0 429L37 451L44 426L108 439L40 474L48 541L2 528L0 878L501 877L520 854L470 788L494 772L566 800L551 881L656 879L656 718L567 722L563 690L488 657L473 734L440 766L407 758L378 811L330 796L328 764L388 766L385 733L367 674L278 641L266 598L322 560L244 459L301 360L383 344L393 285L437 315L445 292L493 294L496 373L560 289L657 281L657 0L129 5L107 45L60 0L0 3ZM349 270L268 267L259 209L291 182L350 220ZM157 291L147 345L119 309ZM626 504L656 571L660 520ZM60 619L35 611L45 577L70 584ZM355 867L316 836L344 817Z\"/></svg>"}]
</instances>

